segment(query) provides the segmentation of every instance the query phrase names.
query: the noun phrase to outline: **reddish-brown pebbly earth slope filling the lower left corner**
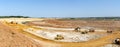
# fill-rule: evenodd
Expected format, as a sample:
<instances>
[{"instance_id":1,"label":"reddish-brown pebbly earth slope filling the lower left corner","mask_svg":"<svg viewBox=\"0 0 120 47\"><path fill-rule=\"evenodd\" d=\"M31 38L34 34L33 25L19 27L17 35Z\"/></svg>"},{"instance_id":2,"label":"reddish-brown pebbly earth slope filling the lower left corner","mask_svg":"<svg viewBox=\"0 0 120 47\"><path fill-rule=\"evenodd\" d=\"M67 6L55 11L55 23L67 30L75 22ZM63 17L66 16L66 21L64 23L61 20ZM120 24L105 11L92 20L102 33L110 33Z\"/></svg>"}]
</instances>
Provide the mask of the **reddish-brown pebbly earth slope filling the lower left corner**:
<instances>
[{"instance_id":1,"label":"reddish-brown pebbly earth slope filling the lower left corner","mask_svg":"<svg viewBox=\"0 0 120 47\"><path fill-rule=\"evenodd\" d=\"M0 47L41 47L41 45L0 22Z\"/></svg>"}]
</instances>

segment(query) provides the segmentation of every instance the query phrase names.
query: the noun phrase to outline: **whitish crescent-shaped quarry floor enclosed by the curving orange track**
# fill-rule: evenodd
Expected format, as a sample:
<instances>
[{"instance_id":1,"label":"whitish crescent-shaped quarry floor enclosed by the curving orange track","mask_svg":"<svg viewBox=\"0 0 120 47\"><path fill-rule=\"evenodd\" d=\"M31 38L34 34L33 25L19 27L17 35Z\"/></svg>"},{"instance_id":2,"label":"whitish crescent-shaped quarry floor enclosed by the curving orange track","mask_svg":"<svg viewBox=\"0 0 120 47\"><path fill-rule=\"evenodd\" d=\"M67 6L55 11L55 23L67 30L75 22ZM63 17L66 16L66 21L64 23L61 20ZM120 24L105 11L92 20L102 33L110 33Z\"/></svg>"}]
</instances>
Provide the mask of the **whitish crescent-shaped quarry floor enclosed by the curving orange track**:
<instances>
[{"instance_id":1,"label":"whitish crescent-shaped quarry floor enclosed by the curving orange track","mask_svg":"<svg viewBox=\"0 0 120 47\"><path fill-rule=\"evenodd\" d=\"M66 31L64 31L65 30L64 28L63 29L55 28L55 30L53 28L51 28L50 30L49 29L48 30L35 30L33 28L27 28L27 29L24 29L24 31L33 33L45 39L59 41L59 42L84 42L84 41L89 41L93 39L98 39L98 38L108 35L108 33L104 33L106 32L104 30L99 30L98 32L96 31L97 34L96 33L82 34L81 32L75 32L74 30L70 30L70 29L68 30L66 29ZM59 31L59 30L63 30L63 31ZM55 37L57 37L57 35L61 35L64 39L56 40Z\"/></svg>"}]
</instances>

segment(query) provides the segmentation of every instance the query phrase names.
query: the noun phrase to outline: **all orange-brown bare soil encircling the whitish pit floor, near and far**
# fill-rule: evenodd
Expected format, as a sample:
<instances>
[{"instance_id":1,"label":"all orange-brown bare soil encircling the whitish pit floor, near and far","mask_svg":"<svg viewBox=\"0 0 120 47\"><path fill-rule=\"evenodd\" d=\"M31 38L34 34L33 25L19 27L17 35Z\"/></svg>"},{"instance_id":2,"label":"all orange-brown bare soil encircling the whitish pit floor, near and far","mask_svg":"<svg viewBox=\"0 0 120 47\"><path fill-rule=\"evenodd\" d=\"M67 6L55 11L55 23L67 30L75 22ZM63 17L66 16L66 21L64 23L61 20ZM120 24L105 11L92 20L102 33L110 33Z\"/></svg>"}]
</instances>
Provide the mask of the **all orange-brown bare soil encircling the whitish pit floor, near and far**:
<instances>
[{"instance_id":1,"label":"all orange-brown bare soil encircling the whitish pit floor, near and far","mask_svg":"<svg viewBox=\"0 0 120 47\"><path fill-rule=\"evenodd\" d=\"M20 20L20 19L16 19L16 20ZM112 44L115 38L120 38L119 24L120 21L105 21L105 20L100 20L100 21L69 20L68 21L68 20L51 20L51 19L42 20L42 21L41 20L32 21L26 24L26 26L31 25L31 26L54 27L54 28L75 28L78 26L80 27L87 26L87 27L95 27L95 28L109 29L115 31L110 35L101 37L99 39L80 42L80 43L73 43L73 42L56 42L38 37L31 33L21 33L24 31L20 29L25 28L26 26L20 26L19 24L13 24L11 26L0 22L0 47L101 47L101 46L106 46L107 44Z\"/></svg>"}]
</instances>

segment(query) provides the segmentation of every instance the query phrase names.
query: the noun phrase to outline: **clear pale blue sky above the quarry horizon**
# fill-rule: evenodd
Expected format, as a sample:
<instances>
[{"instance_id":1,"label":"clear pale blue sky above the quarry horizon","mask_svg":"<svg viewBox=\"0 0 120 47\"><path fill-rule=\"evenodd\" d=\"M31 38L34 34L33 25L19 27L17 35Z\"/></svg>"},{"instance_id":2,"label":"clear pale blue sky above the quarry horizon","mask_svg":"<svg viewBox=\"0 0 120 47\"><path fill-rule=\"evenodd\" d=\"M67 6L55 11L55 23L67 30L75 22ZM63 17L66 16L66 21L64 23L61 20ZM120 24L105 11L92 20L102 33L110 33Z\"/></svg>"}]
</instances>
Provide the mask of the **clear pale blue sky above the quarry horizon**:
<instances>
[{"instance_id":1,"label":"clear pale blue sky above the quarry horizon","mask_svg":"<svg viewBox=\"0 0 120 47\"><path fill-rule=\"evenodd\" d=\"M0 0L0 16L120 16L120 0Z\"/></svg>"}]
</instances>

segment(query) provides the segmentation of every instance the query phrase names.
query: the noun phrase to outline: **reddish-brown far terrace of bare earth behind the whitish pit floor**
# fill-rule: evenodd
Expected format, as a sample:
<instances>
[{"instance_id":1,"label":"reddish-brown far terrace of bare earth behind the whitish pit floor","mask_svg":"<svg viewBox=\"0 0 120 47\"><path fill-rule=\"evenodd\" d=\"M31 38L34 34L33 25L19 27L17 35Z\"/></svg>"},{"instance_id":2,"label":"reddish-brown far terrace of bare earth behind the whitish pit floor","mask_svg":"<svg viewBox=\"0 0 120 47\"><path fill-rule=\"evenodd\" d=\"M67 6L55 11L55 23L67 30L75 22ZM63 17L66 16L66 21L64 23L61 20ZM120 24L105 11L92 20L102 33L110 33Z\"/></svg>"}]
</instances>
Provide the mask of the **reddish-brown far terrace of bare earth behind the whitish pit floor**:
<instances>
[{"instance_id":1,"label":"reddish-brown far terrace of bare earth behind the whitish pit floor","mask_svg":"<svg viewBox=\"0 0 120 47\"><path fill-rule=\"evenodd\" d=\"M37 25L45 27L55 27L55 28L75 28L75 27L95 27L101 29L109 30L119 30L120 21L110 21L110 20L43 20L43 21L33 21L29 22L28 25Z\"/></svg>"}]
</instances>

